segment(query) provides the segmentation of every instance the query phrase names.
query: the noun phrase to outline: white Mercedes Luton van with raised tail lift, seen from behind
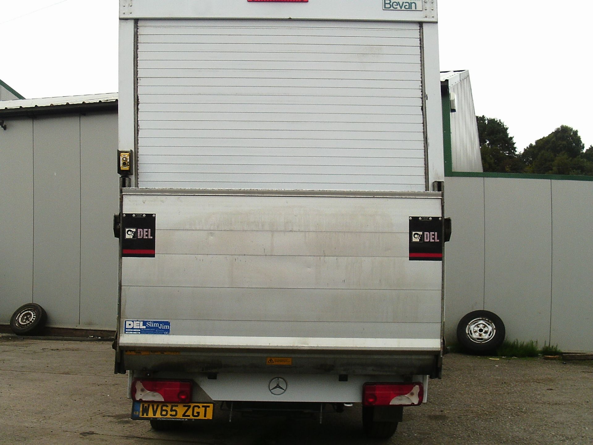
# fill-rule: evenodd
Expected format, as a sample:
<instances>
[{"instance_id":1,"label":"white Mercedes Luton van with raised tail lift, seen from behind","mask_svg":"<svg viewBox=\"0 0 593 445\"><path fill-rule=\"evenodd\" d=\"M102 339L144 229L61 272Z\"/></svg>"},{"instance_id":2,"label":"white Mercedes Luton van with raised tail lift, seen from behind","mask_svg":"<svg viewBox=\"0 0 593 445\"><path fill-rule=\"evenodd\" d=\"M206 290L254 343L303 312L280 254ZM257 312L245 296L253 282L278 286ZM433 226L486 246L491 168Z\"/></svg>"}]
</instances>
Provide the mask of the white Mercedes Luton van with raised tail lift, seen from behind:
<instances>
[{"instance_id":1,"label":"white Mercedes Luton van with raised tail lift, seen from behind","mask_svg":"<svg viewBox=\"0 0 593 445\"><path fill-rule=\"evenodd\" d=\"M154 428L441 375L436 0L120 0L116 372Z\"/></svg>"}]
</instances>

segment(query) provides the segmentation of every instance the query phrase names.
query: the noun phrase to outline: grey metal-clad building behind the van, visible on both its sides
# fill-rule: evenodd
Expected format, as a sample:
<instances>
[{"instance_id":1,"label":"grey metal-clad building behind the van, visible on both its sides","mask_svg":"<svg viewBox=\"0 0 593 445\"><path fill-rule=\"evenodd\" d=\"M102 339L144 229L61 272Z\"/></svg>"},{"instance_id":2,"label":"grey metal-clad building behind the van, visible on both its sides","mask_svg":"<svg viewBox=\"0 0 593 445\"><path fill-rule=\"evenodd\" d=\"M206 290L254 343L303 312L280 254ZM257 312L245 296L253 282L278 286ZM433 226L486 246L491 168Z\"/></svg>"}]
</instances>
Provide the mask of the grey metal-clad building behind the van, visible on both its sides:
<instances>
[{"instance_id":1,"label":"grey metal-clad building behind the van, visible on both its sides","mask_svg":"<svg viewBox=\"0 0 593 445\"><path fill-rule=\"evenodd\" d=\"M469 77L454 73L441 84L447 340L486 309L509 339L591 351L593 178L482 173ZM117 95L4 102L0 119L0 324L34 301L49 326L114 329Z\"/></svg>"}]
</instances>

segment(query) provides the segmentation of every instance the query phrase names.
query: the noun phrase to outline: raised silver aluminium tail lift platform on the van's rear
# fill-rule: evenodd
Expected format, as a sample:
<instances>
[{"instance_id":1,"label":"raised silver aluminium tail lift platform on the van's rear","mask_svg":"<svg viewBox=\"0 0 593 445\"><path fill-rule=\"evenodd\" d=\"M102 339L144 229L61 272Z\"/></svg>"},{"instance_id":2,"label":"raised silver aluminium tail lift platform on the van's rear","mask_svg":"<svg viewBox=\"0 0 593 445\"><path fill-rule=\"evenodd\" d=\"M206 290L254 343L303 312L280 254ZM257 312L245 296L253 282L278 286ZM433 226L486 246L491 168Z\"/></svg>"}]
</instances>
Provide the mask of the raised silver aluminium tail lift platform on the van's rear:
<instances>
[{"instance_id":1,"label":"raised silver aluminium tail lift platform on the van's rear","mask_svg":"<svg viewBox=\"0 0 593 445\"><path fill-rule=\"evenodd\" d=\"M291 338L294 347L311 338L440 339L441 263L408 258L410 216L440 216L440 198L123 198L124 214L156 215L156 253L122 259L120 329L126 319L171 326L171 339L136 335L138 344L187 336Z\"/></svg>"}]
</instances>

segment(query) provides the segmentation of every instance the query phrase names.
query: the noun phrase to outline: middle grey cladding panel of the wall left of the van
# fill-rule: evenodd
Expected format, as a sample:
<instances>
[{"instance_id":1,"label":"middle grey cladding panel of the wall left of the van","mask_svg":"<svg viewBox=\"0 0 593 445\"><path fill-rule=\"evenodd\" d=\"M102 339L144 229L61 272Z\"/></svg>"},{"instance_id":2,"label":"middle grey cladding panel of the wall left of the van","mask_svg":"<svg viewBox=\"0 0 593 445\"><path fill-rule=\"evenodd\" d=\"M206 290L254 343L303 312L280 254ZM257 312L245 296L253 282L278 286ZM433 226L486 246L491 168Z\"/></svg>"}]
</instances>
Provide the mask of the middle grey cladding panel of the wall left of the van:
<instances>
[{"instance_id":1,"label":"middle grey cladding panel of the wall left of the van","mask_svg":"<svg viewBox=\"0 0 593 445\"><path fill-rule=\"evenodd\" d=\"M80 307L80 117L37 117L33 141L33 301L49 326L72 327Z\"/></svg>"}]
</instances>

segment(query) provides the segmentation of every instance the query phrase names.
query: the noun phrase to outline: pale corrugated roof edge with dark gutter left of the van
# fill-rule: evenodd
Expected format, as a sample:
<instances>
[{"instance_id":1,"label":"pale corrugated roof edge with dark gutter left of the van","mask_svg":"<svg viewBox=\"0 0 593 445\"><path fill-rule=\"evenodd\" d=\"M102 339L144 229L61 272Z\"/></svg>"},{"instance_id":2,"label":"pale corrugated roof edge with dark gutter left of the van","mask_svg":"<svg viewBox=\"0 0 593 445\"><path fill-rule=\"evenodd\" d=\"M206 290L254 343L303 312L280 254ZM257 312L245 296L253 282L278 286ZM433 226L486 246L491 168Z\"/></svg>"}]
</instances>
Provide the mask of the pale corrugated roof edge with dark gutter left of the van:
<instances>
[{"instance_id":1,"label":"pale corrugated roof edge with dark gutter left of the van","mask_svg":"<svg viewBox=\"0 0 593 445\"><path fill-rule=\"evenodd\" d=\"M0 102L2 116L30 116L49 113L69 113L90 109L117 109L117 93L84 96L42 97L37 99L5 100Z\"/></svg>"}]
</instances>

